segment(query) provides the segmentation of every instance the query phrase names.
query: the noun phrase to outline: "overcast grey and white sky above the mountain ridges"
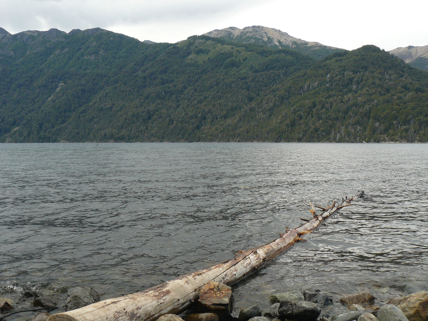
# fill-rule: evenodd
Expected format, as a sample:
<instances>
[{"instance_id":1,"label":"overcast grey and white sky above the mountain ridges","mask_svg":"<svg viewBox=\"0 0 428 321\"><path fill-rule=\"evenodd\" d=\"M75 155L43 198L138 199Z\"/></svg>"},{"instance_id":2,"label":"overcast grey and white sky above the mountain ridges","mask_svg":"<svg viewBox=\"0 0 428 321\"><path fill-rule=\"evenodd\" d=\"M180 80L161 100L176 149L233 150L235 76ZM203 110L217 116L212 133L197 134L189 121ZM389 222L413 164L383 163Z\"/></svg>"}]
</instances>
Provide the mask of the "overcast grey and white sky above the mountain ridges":
<instances>
[{"instance_id":1,"label":"overcast grey and white sky above the mountain ridges","mask_svg":"<svg viewBox=\"0 0 428 321\"><path fill-rule=\"evenodd\" d=\"M177 42L226 27L276 28L345 49L428 45L428 0L0 0L0 27L101 27L155 42Z\"/></svg>"}]
</instances>

